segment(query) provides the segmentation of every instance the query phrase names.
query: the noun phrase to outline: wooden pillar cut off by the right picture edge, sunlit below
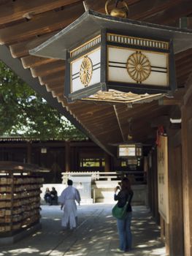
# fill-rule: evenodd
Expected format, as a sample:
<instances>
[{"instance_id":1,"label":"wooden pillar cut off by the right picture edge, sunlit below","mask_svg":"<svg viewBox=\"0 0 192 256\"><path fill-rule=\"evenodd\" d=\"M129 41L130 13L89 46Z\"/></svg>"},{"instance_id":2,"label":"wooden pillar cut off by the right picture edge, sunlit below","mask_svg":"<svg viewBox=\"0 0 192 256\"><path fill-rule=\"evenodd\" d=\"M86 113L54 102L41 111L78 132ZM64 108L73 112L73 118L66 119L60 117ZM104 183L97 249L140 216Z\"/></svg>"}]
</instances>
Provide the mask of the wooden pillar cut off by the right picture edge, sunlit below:
<instances>
[{"instance_id":1,"label":"wooden pillar cut off by the right picture edge, sunlit below","mask_svg":"<svg viewBox=\"0 0 192 256\"><path fill-rule=\"evenodd\" d=\"M185 256L192 255L192 78L182 107L183 214Z\"/></svg>"}]
</instances>

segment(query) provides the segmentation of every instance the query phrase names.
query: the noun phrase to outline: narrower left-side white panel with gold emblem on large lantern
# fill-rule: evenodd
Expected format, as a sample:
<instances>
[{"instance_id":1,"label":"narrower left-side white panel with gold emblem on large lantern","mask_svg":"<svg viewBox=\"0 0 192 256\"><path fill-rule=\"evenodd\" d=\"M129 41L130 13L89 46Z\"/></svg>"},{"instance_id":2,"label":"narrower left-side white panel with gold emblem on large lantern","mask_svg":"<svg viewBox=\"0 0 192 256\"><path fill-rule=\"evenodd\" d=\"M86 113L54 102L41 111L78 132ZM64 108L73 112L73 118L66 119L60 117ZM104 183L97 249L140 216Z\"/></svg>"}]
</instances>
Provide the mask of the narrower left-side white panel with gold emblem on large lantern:
<instances>
[{"instance_id":1,"label":"narrower left-side white panel with gold emblem on large lantern","mask_svg":"<svg viewBox=\"0 0 192 256\"><path fill-rule=\"evenodd\" d=\"M83 61L85 58L88 61ZM85 70L85 75L81 76ZM77 59L71 63L71 92L84 89L87 86L92 86L96 83L100 83L101 80L101 48L88 53L85 56L82 56L80 59Z\"/></svg>"}]
</instances>

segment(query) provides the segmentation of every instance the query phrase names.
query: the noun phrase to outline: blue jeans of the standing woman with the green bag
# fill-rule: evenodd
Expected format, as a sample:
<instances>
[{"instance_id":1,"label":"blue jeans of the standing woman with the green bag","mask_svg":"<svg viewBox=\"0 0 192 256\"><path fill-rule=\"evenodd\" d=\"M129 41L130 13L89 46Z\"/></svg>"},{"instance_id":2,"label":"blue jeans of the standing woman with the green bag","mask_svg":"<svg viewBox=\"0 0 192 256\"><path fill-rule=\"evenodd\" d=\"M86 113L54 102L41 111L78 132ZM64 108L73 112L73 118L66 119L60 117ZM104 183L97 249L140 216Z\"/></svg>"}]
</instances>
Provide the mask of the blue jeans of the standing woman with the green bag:
<instances>
[{"instance_id":1,"label":"blue jeans of the standing woman with the green bag","mask_svg":"<svg viewBox=\"0 0 192 256\"><path fill-rule=\"evenodd\" d=\"M131 234L131 218L132 212L128 212L126 219L117 219L118 235L120 240L120 250L131 250L132 234Z\"/></svg>"}]
</instances>

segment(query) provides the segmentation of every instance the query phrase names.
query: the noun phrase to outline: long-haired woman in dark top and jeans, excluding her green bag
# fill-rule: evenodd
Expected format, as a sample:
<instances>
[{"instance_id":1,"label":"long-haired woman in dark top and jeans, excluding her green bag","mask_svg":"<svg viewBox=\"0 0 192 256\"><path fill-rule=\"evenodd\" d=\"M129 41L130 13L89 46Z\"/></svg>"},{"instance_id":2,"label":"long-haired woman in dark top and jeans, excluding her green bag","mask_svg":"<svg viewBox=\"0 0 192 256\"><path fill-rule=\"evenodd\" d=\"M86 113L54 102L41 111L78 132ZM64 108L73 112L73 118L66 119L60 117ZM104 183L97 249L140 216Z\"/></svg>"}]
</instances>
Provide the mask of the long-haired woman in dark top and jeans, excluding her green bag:
<instances>
[{"instance_id":1,"label":"long-haired woman in dark top and jeans, excluding her green bag","mask_svg":"<svg viewBox=\"0 0 192 256\"><path fill-rule=\"evenodd\" d=\"M130 181L128 180L128 178L123 178L123 180L121 181L120 187L115 187L115 195L114 195L114 199L118 200L119 208L123 208L123 206L125 206L128 201L127 208L126 208L126 212L127 212L126 216L123 217L123 219L117 219L118 235L120 240L119 250L122 252L130 251L132 246L131 200L133 195L134 195L134 192L131 189Z\"/></svg>"}]
</instances>

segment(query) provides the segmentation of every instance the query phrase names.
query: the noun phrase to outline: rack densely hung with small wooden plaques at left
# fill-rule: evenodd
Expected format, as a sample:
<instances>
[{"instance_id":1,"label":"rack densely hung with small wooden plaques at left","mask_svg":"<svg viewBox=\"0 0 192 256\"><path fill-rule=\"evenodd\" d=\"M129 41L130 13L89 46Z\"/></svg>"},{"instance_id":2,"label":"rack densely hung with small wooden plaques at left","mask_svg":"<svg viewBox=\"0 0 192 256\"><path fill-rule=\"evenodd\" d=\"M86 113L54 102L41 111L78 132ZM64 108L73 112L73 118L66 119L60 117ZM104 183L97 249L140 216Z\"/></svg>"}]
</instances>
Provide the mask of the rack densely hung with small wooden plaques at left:
<instances>
[{"instance_id":1,"label":"rack densely hung with small wooden plaques at left","mask_svg":"<svg viewBox=\"0 0 192 256\"><path fill-rule=\"evenodd\" d=\"M44 179L37 167L0 162L0 238L14 236L40 220L40 188ZM16 166L16 167L15 167ZM30 166L30 168L29 168Z\"/></svg>"}]
</instances>

